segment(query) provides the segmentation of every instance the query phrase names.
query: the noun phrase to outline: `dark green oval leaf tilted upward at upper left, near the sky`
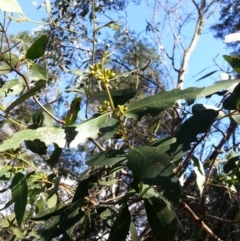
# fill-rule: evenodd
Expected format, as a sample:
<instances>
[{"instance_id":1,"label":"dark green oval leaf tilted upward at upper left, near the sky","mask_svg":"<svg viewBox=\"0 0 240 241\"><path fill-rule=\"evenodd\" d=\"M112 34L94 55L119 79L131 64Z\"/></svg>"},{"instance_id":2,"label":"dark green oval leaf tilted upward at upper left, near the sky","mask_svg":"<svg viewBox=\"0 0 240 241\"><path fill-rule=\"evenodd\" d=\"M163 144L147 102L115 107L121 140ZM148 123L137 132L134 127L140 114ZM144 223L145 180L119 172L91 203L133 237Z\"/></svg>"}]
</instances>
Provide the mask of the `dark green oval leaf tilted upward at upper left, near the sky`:
<instances>
[{"instance_id":1,"label":"dark green oval leaf tilted upward at upper left, near the sky","mask_svg":"<svg viewBox=\"0 0 240 241\"><path fill-rule=\"evenodd\" d=\"M45 49L47 48L48 37L43 35L38 38L27 50L27 59L38 59L44 55Z\"/></svg>"}]
</instances>

